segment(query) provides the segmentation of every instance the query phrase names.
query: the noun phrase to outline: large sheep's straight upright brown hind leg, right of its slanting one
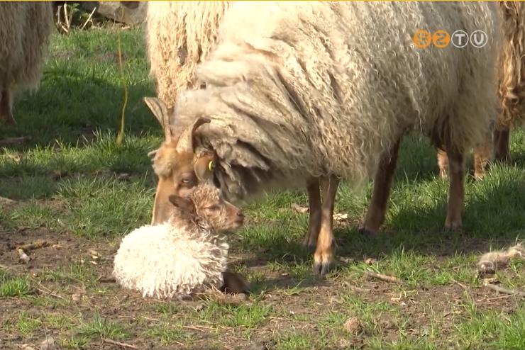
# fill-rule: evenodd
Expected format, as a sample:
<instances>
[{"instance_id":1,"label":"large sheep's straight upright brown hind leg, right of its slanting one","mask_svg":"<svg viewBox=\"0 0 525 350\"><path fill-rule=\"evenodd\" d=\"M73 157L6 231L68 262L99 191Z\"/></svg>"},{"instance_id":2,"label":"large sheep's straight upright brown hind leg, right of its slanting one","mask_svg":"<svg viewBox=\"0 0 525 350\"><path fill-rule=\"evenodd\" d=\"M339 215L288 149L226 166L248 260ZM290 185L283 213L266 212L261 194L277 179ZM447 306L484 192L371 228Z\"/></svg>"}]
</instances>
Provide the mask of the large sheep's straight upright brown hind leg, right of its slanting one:
<instances>
[{"instance_id":1,"label":"large sheep's straight upright brown hind leg, right of its slanting one","mask_svg":"<svg viewBox=\"0 0 525 350\"><path fill-rule=\"evenodd\" d=\"M463 153L453 150L448 155L448 186L446 230L458 230L461 228L461 216L463 215L463 202L465 201L465 169Z\"/></svg>"}]
</instances>

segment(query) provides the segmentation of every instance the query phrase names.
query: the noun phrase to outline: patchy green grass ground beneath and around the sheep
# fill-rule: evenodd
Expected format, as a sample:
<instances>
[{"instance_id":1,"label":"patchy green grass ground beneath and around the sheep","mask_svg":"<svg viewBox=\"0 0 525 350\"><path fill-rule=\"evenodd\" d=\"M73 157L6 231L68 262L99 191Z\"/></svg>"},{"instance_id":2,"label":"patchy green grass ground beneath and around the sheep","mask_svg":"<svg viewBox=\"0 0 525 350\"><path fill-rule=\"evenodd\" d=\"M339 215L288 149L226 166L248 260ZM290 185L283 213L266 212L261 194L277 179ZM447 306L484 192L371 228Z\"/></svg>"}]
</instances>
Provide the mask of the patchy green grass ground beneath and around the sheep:
<instances>
[{"instance_id":1,"label":"patchy green grass ground beneath and around the sheep","mask_svg":"<svg viewBox=\"0 0 525 350\"><path fill-rule=\"evenodd\" d=\"M118 33L129 91L121 145ZM51 331L68 349L101 347L106 338L139 349L525 347L524 303L485 290L475 274L480 252L525 235L524 130L512 132L514 164L494 164L483 181L468 179L461 233L442 230L448 182L436 176L435 151L424 137L407 135L378 237L356 230L371 185L356 191L341 184L336 211L349 220L336 237L344 260L326 280L311 276L312 256L302 246L308 217L291 209L306 206L306 195L283 191L245 205L253 224L230 237L233 269L252 286L248 300L159 302L99 281L111 271L119 239L148 223L153 208L156 178L147 153L160 145L162 131L141 101L154 96L143 32L106 26L54 35L50 49L40 89L16 99L18 125L0 130L0 139L31 136L0 149L0 196L16 201L0 206L0 244L25 242L27 230L79 247L69 256L57 250L56 261L42 261L36 251L31 264L41 268L32 269L18 263L9 244L0 245L0 338L8 348L19 345L17 336L38 344ZM82 262L89 247L105 249L96 266ZM524 289L524 268L514 260L497 280ZM406 283L368 281L367 270ZM37 293L39 283L58 296ZM359 327L349 331L352 317Z\"/></svg>"}]
</instances>

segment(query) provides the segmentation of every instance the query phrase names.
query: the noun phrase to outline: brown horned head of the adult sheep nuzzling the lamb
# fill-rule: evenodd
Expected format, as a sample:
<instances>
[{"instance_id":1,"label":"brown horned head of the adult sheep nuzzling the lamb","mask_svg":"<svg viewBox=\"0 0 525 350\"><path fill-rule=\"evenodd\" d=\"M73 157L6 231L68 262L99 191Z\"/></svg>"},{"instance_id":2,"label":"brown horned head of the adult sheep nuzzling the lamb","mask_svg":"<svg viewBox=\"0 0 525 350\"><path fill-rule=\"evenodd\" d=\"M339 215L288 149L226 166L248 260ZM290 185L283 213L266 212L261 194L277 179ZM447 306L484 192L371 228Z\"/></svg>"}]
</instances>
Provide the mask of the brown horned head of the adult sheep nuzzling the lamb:
<instances>
[{"instance_id":1,"label":"brown horned head of the adult sheep nuzzling the lamb","mask_svg":"<svg viewBox=\"0 0 525 350\"><path fill-rule=\"evenodd\" d=\"M206 118L197 119L185 130L176 130L170 122L170 111L157 98L144 98L165 132L165 142L159 149L150 152L153 170L158 176L152 225L170 218L172 204L170 196L185 196L194 186L212 181L215 157L213 152L194 153L193 132L200 125L209 123Z\"/></svg>"}]
</instances>

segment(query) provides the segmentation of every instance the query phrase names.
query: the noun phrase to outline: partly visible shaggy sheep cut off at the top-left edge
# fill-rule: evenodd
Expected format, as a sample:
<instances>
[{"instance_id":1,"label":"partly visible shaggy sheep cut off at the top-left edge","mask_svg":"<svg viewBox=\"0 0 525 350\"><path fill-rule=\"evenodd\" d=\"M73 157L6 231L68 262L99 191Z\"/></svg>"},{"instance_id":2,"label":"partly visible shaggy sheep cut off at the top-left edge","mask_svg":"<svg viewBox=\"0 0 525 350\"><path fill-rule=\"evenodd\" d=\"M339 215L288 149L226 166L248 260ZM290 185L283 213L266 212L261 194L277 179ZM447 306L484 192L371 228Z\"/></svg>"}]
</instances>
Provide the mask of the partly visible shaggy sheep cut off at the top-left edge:
<instances>
[{"instance_id":1,"label":"partly visible shaggy sheep cut off at the top-left edge","mask_svg":"<svg viewBox=\"0 0 525 350\"><path fill-rule=\"evenodd\" d=\"M9 1L0 10L0 123L16 124L13 95L36 89L52 33L51 1Z\"/></svg>"}]
</instances>

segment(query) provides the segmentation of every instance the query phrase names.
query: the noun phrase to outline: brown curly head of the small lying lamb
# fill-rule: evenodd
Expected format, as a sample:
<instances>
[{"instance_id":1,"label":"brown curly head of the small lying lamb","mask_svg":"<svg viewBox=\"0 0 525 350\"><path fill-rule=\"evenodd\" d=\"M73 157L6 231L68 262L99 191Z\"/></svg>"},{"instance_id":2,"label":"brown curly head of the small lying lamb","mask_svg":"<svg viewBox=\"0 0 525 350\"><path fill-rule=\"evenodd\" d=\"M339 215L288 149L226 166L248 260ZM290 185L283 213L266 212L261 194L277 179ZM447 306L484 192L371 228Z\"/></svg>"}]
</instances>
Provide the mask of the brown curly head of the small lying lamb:
<instances>
[{"instance_id":1,"label":"brown curly head of the small lying lamb","mask_svg":"<svg viewBox=\"0 0 525 350\"><path fill-rule=\"evenodd\" d=\"M221 198L219 189L204 184L194 188L189 196L170 196L176 215L172 220L203 222L215 232L236 230L244 222L243 212Z\"/></svg>"}]
</instances>

